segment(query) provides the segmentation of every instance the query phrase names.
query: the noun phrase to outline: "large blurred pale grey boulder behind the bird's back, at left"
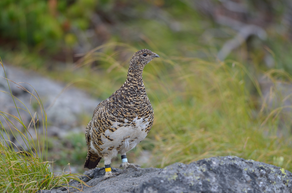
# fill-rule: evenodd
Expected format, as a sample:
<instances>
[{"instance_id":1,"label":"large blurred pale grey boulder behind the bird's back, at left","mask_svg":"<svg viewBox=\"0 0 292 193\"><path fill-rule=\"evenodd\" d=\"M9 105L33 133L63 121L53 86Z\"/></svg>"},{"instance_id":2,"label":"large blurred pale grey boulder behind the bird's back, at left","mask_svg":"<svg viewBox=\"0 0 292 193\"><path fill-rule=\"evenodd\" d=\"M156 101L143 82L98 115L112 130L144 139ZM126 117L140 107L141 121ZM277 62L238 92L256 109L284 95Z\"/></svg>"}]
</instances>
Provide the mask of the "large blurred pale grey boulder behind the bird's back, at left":
<instances>
[{"instance_id":1,"label":"large blurred pale grey boulder behind the bird's back, at left","mask_svg":"<svg viewBox=\"0 0 292 193\"><path fill-rule=\"evenodd\" d=\"M27 110L31 113L31 115L29 115L25 110L19 109L22 121L27 127L34 113L37 113L38 117L41 119L41 111L37 105L37 100L22 89L21 86L33 93L36 97L37 95L40 97L47 114L49 125L48 136L58 136L62 138L63 134L67 134L68 131L84 132L83 130L85 130L86 125L80 125L80 115L91 117L95 107L100 103L99 100L91 98L84 91L76 89L73 86L66 88L66 85L40 76L32 71L7 65L4 65L4 68L7 78L15 82L9 81L12 94L23 103L15 99L17 106L25 110L26 106ZM0 68L0 75L5 77L2 66ZM0 109L6 113L19 117L14 101L9 95L10 91L7 80L2 77L0 77L0 90L8 92L8 94L0 92ZM35 118L35 120L36 119L37 118ZM1 116L0 120L4 122L4 124L6 123ZM18 123L17 120L11 120L20 131L23 131L23 126ZM39 123L41 124L41 122ZM8 126L4 126L8 128ZM30 125L30 127L32 127L32 125Z\"/></svg>"}]
</instances>

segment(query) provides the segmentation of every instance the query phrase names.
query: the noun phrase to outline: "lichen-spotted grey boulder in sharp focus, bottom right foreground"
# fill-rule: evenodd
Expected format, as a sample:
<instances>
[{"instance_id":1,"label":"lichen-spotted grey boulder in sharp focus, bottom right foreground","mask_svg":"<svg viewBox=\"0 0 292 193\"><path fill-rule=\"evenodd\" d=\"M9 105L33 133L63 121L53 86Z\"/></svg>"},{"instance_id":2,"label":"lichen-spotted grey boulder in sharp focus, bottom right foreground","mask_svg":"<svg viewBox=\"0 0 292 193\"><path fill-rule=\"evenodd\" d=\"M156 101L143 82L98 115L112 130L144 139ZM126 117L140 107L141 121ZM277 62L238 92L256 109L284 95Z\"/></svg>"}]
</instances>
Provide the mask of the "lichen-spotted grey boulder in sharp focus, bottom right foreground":
<instances>
[{"instance_id":1,"label":"lichen-spotted grey boulder in sharp focus, bottom right foreground","mask_svg":"<svg viewBox=\"0 0 292 193\"><path fill-rule=\"evenodd\" d=\"M292 192L292 173L236 156L211 157L188 165L175 163L135 187L147 192Z\"/></svg>"}]
</instances>

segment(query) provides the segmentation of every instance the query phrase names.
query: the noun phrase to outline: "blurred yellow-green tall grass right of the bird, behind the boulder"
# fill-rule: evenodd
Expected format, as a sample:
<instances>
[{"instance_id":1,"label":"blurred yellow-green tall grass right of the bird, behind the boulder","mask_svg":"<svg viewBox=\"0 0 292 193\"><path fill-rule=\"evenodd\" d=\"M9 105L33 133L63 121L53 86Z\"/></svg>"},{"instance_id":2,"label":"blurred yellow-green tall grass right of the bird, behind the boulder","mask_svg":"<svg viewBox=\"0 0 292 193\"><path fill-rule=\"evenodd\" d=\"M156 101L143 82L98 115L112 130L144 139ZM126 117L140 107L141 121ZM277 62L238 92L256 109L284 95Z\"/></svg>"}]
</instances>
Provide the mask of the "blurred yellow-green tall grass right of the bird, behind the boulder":
<instances>
[{"instance_id":1,"label":"blurred yellow-green tall grass right of the bird, behind the boulder","mask_svg":"<svg viewBox=\"0 0 292 193\"><path fill-rule=\"evenodd\" d=\"M159 163L155 166L236 155L291 171L291 121L288 118L279 131L279 122L284 121L277 114L281 109L271 113L267 101L263 99L261 104L254 100L255 96L261 97L256 78L237 62L233 67L228 62L189 59L183 64L183 60L176 63L175 68L182 70L175 70L171 81L151 82L168 87L154 100L158 113L150 138L155 144L152 162ZM258 93L250 93L248 82ZM180 83L179 90L175 89L176 83ZM281 165L274 161L279 157L285 160Z\"/></svg>"}]
</instances>

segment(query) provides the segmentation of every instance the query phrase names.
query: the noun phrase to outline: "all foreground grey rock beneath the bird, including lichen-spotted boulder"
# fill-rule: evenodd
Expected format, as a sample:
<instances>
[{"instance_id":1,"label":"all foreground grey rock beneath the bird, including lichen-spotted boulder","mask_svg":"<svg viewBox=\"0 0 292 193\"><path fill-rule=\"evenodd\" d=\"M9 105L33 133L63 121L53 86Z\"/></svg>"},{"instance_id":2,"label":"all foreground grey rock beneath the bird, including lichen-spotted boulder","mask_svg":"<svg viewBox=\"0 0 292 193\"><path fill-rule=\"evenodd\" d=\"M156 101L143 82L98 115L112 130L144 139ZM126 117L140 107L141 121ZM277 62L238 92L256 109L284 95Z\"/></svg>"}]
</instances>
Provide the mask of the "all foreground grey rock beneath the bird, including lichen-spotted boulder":
<instances>
[{"instance_id":1,"label":"all foreground grey rock beneath the bird, including lichen-spotted boulder","mask_svg":"<svg viewBox=\"0 0 292 193\"><path fill-rule=\"evenodd\" d=\"M120 169L112 168L112 171ZM69 192L133 192L133 193L291 193L292 173L280 167L245 160L236 156L210 157L190 164L175 163L164 169L130 168L117 177L102 180L104 167L86 171L88 186L71 182ZM68 186L42 193L68 192Z\"/></svg>"}]
</instances>

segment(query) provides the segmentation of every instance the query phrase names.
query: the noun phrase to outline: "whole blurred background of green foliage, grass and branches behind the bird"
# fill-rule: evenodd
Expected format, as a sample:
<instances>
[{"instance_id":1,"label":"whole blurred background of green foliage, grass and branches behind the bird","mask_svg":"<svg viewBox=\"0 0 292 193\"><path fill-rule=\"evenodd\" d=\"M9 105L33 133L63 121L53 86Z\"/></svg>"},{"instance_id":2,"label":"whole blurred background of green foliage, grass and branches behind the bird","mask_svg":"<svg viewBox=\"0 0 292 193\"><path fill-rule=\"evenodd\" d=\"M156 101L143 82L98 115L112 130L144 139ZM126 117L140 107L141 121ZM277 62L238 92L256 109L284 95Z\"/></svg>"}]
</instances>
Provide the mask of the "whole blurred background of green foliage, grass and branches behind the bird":
<instances>
[{"instance_id":1,"label":"whole blurred background of green foliage, grass and branches behind the bird","mask_svg":"<svg viewBox=\"0 0 292 193\"><path fill-rule=\"evenodd\" d=\"M0 8L4 62L65 83L85 79L74 85L102 100L124 82L134 52L161 56L143 73L155 123L131 162L237 155L292 171L291 1L1 0ZM83 135L48 146L57 164L82 168Z\"/></svg>"}]
</instances>

